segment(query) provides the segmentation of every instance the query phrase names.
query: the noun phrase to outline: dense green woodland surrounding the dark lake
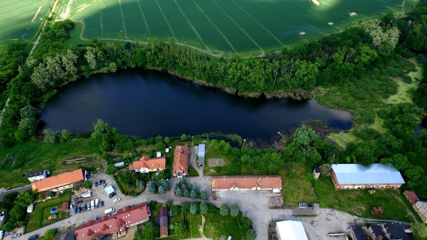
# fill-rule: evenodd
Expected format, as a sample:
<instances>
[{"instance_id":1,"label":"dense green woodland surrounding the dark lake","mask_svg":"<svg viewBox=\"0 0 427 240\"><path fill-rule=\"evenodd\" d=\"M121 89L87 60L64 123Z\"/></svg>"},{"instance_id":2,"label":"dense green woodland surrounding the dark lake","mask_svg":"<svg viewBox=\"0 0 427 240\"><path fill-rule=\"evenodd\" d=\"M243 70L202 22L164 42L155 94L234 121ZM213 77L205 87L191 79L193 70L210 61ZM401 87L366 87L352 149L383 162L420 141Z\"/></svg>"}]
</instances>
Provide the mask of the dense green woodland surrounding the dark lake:
<instances>
[{"instance_id":1,"label":"dense green woodland surrounding the dark lake","mask_svg":"<svg viewBox=\"0 0 427 240\"><path fill-rule=\"evenodd\" d=\"M327 89L318 101L350 111L354 116L353 134L362 141L351 142L344 150L302 127L293 134L282 154L269 149L234 150L240 163L270 174L284 166L286 160L307 163L310 168L337 162L365 165L392 162L405 175L407 187L427 192L424 163L427 131L417 127L425 116L427 103L427 63L422 55L416 58L423 66L424 75L412 94L414 104L382 101L396 93L396 84L390 76L409 81L405 76L413 65L406 59L415 57L417 51L427 50L425 0L410 13L389 13L381 20L360 22L343 32L262 58L232 55L212 59L175 45L172 39L166 42L150 39L146 44L92 39L70 44L68 39L74 27L75 23L69 20L48 23L30 56L29 45L21 42L10 43L2 52L0 89L10 98L0 126L2 147L46 137L51 143L68 141L68 131L42 133L38 123L39 111L59 88L77 79L84 81L92 74L146 68L167 71L243 96L294 91L294 97L307 98L314 96L316 88ZM376 118L383 122L384 132L367 127ZM98 136L102 140L101 152L110 150L111 143L123 150L135 147L135 139L120 135L117 129L110 131L98 122L95 133L97 127L103 129ZM232 166L229 169L230 173L240 172Z\"/></svg>"}]
</instances>

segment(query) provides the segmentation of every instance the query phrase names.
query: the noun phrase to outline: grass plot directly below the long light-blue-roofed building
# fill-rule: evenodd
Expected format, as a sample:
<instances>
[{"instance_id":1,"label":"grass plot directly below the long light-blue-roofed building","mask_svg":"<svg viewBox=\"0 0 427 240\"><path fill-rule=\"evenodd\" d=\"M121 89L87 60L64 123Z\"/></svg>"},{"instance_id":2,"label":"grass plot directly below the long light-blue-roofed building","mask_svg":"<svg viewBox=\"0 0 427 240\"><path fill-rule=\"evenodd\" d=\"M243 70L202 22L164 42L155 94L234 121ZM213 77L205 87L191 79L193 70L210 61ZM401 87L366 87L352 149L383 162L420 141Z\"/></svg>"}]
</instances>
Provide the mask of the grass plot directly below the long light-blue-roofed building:
<instances>
[{"instance_id":1,"label":"grass plot directly below the long light-blue-roofed building","mask_svg":"<svg viewBox=\"0 0 427 240\"><path fill-rule=\"evenodd\" d=\"M393 219L406 222L419 221L420 218L405 199L403 193L394 189L375 189L375 193L368 193L368 189L336 190L330 177L319 178L315 181L315 191L320 200L320 207L334 208L350 214L377 219ZM382 215L373 215L370 210L380 206ZM412 214L408 214L411 212Z\"/></svg>"}]
</instances>

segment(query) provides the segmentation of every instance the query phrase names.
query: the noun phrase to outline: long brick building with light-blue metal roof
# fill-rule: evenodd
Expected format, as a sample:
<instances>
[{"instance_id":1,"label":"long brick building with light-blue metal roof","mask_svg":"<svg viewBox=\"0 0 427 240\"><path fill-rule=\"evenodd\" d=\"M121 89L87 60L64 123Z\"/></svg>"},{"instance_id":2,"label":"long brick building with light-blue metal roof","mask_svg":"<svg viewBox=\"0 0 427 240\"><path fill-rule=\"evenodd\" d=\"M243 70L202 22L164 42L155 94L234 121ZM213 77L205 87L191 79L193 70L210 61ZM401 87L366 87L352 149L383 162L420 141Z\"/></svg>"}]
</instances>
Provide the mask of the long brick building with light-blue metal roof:
<instances>
[{"instance_id":1,"label":"long brick building with light-blue metal roof","mask_svg":"<svg viewBox=\"0 0 427 240\"><path fill-rule=\"evenodd\" d=\"M393 164L332 164L331 177L337 189L398 188L405 181Z\"/></svg>"}]
</instances>

